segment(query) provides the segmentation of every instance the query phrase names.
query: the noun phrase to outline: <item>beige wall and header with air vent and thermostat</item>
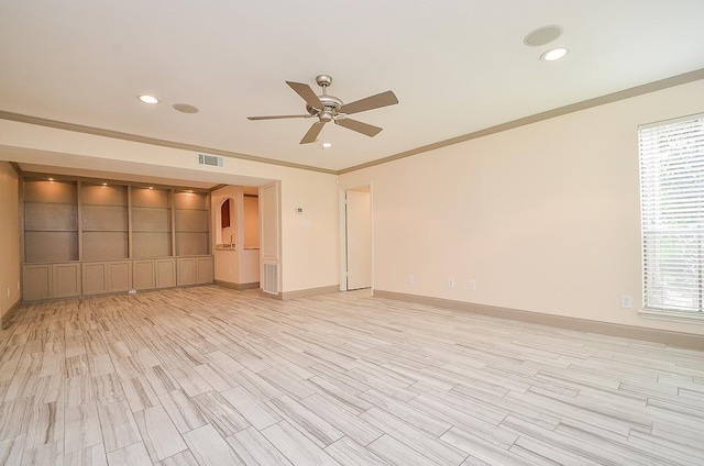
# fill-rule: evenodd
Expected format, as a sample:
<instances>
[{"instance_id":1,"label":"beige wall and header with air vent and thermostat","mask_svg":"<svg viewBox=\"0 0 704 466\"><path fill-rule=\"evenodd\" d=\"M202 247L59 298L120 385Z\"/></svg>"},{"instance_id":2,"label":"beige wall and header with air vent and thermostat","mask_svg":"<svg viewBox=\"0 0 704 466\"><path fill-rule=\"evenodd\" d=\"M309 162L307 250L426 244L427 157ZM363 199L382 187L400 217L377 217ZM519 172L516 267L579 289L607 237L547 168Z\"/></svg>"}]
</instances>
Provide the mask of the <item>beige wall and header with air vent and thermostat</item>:
<instances>
[{"instance_id":1,"label":"beige wall and header with air vent and thermostat","mask_svg":"<svg viewBox=\"0 0 704 466\"><path fill-rule=\"evenodd\" d=\"M339 284L336 176L237 158L224 167L196 163L195 152L113 140L0 120L0 160L69 168L207 180L216 184L282 186L282 291ZM306 206L309 228L296 206Z\"/></svg>"}]
</instances>

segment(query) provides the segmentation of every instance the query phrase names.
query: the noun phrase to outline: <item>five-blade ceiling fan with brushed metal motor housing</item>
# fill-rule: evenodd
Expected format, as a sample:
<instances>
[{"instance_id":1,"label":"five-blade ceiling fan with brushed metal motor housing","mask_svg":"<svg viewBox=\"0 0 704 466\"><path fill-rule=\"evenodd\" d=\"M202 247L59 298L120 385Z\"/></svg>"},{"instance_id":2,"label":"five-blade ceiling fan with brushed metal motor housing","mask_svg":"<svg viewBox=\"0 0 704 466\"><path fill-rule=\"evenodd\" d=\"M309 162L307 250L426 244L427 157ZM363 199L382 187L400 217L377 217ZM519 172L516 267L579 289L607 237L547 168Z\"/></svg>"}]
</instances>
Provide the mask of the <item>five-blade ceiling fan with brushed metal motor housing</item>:
<instances>
[{"instance_id":1,"label":"five-blade ceiling fan with brushed metal motor housing","mask_svg":"<svg viewBox=\"0 0 704 466\"><path fill-rule=\"evenodd\" d=\"M308 113L300 115L248 116L248 119L280 120L287 118L317 116L318 121L310 126L310 130L308 130L304 138L300 140L300 144L316 142L318 134L322 131L322 126L331 121L348 130L373 137L382 131L381 127L352 120L348 118L348 115L398 103L398 99L391 90L351 103L343 103L339 98L328 95L328 86L332 84L331 76L320 75L316 78L316 82L322 88L320 96L316 96L310 86L306 84L286 81L286 84L306 101L306 111L308 111Z\"/></svg>"}]
</instances>

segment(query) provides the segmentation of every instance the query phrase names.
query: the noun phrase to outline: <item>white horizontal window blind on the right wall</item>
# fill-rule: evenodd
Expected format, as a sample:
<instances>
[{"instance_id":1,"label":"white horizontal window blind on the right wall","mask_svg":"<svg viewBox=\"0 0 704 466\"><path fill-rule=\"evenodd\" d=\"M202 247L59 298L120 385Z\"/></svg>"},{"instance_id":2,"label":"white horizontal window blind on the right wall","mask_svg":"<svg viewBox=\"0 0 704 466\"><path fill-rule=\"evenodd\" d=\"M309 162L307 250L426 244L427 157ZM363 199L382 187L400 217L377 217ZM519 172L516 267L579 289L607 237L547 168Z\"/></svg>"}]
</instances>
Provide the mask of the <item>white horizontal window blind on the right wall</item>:
<instances>
[{"instance_id":1,"label":"white horizontal window blind on the right wall","mask_svg":"<svg viewBox=\"0 0 704 466\"><path fill-rule=\"evenodd\" d=\"M646 309L702 313L704 113L638 129Z\"/></svg>"}]
</instances>

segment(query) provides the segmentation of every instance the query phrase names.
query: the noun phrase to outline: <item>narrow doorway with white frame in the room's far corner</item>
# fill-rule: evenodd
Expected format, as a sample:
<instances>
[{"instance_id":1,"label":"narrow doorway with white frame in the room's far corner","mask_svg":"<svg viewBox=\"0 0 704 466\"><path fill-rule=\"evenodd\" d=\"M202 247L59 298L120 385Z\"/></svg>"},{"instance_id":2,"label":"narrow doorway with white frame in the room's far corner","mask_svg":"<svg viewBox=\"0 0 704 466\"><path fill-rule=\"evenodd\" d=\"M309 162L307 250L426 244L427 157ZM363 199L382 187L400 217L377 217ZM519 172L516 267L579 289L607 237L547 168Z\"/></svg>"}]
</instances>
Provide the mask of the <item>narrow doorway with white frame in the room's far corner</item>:
<instances>
[{"instance_id":1,"label":"narrow doorway with white frame in the room's far corner","mask_svg":"<svg viewBox=\"0 0 704 466\"><path fill-rule=\"evenodd\" d=\"M340 290L372 289L372 189L341 190L343 206Z\"/></svg>"}]
</instances>

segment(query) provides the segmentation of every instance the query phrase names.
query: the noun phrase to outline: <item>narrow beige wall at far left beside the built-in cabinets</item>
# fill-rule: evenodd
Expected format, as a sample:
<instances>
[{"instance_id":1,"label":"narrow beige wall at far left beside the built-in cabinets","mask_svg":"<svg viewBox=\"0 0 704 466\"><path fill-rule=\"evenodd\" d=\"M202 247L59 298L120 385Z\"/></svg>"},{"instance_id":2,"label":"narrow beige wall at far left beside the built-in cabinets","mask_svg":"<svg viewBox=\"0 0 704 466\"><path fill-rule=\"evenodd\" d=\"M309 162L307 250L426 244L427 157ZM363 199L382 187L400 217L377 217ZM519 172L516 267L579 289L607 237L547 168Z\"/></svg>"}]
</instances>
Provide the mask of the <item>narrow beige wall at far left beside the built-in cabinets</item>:
<instances>
[{"instance_id":1,"label":"narrow beige wall at far left beside the built-in cabinets","mask_svg":"<svg viewBox=\"0 0 704 466\"><path fill-rule=\"evenodd\" d=\"M0 162L0 320L20 300L19 177Z\"/></svg>"}]
</instances>

